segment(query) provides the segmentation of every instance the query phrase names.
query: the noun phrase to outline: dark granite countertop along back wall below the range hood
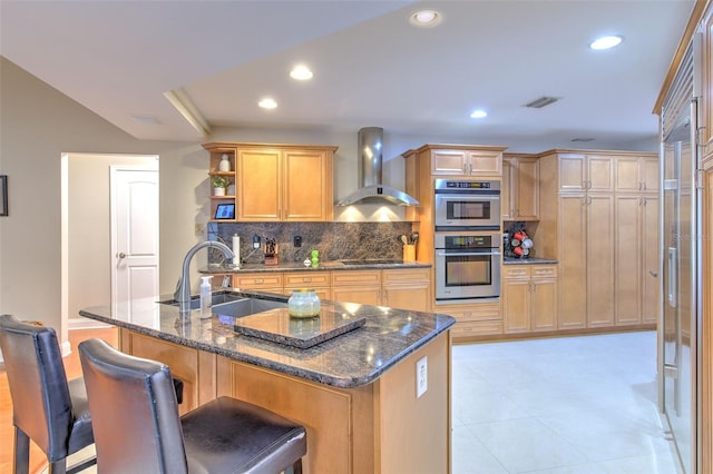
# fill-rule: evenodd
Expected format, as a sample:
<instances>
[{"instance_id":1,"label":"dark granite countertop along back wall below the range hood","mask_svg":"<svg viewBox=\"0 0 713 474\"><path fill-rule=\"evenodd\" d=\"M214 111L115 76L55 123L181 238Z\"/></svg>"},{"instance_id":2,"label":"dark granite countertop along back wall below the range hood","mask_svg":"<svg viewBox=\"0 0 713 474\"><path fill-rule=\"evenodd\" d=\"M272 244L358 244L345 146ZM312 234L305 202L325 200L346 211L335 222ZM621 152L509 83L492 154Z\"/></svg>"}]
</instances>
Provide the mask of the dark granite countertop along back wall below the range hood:
<instances>
[{"instance_id":1,"label":"dark granite countertop along back wall below the range hood","mask_svg":"<svg viewBox=\"0 0 713 474\"><path fill-rule=\"evenodd\" d=\"M350 261L350 260L345 260ZM352 260L353 261L353 260ZM324 271L324 270L388 270L399 268L430 268L432 264L423 261L400 261L400 260L362 260L359 263L344 264L343 260L320 261L316 267L305 267L301 261L290 261L277 265L243 264L240 268L223 265L208 265L198 269L202 274L226 274L226 273L254 273L254 271Z\"/></svg>"}]
</instances>

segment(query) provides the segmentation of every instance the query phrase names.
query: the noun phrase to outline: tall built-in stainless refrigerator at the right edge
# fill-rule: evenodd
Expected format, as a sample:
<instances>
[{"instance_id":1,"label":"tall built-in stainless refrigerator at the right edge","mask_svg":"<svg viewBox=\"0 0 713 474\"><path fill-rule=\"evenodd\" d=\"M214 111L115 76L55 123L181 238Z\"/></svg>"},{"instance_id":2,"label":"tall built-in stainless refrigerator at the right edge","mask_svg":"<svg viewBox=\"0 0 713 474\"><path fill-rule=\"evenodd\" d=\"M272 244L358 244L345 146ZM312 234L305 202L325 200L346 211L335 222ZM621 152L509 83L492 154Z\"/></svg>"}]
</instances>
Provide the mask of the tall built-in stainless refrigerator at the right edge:
<instances>
[{"instance_id":1,"label":"tall built-in stainless refrigerator at the right edge","mask_svg":"<svg viewBox=\"0 0 713 474\"><path fill-rule=\"evenodd\" d=\"M697 100L688 51L662 111L660 407L685 473L699 473L701 204Z\"/></svg>"}]
</instances>

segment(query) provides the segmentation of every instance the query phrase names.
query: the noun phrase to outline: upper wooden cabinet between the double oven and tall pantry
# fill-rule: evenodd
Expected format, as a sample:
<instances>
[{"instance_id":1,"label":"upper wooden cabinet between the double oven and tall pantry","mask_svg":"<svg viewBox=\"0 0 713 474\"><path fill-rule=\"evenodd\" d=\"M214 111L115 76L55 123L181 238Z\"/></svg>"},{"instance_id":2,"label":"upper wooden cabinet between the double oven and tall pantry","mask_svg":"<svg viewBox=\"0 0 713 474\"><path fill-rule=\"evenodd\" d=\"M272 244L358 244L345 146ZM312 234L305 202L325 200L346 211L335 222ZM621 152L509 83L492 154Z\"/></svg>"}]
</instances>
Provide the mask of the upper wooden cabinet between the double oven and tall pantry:
<instances>
[{"instance_id":1,"label":"upper wooden cabinet between the double oven and tall pantry","mask_svg":"<svg viewBox=\"0 0 713 474\"><path fill-rule=\"evenodd\" d=\"M502 220L539 220L539 161L505 155L500 192Z\"/></svg>"}]
</instances>

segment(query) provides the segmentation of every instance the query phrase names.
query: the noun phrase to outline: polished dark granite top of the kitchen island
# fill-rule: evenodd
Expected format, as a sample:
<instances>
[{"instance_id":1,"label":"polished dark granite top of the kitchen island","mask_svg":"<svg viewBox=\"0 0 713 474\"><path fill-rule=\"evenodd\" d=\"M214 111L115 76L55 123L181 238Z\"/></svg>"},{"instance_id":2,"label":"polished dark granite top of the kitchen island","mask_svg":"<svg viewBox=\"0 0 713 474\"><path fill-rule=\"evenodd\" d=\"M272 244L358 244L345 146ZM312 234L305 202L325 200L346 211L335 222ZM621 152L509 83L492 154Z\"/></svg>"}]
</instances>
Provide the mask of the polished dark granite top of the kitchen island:
<instances>
[{"instance_id":1,"label":"polished dark granite top of the kitchen island","mask_svg":"<svg viewBox=\"0 0 713 474\"><path fill-rule=\"evenodd\" d=\"M287 300L283 295L228 292L237 296ZM350 303L323 300L322 308L345 317L364 317L367 322L362 327L302 349L240 334L234 330L234 317L214 313L202 319L197 309L182 316L178 307L154 299L119 304L116 313L108 306L95 306L81 309L79 314L182 346L343 388L374 382L456 323L451 316L442 314Z\"/></svg>"}]
</instances>

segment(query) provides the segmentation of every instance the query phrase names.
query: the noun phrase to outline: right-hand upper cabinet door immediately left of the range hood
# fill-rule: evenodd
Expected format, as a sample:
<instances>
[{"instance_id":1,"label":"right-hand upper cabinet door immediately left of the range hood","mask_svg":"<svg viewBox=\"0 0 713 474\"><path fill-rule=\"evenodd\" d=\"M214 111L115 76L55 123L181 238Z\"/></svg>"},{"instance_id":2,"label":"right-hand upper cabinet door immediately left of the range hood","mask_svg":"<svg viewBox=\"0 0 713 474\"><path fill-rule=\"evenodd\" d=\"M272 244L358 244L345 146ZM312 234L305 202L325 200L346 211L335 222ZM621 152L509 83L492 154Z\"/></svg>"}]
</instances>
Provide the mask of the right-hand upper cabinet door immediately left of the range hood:
<instances>
[{"instance_id":1,"label":"right-hand upper cabinet door immediately left of the range hood","mask_svg":"<svg viewBox=\"0 0 713 474\"><path fill-rule=\"evenodd\" d=\"M283 220L328 220L330 209L323 191L332 186L332 176L326 176L326 159L324 151L284 151ZM332 205L330 201L329 207Z\"/></svg>"}]
</instances>

